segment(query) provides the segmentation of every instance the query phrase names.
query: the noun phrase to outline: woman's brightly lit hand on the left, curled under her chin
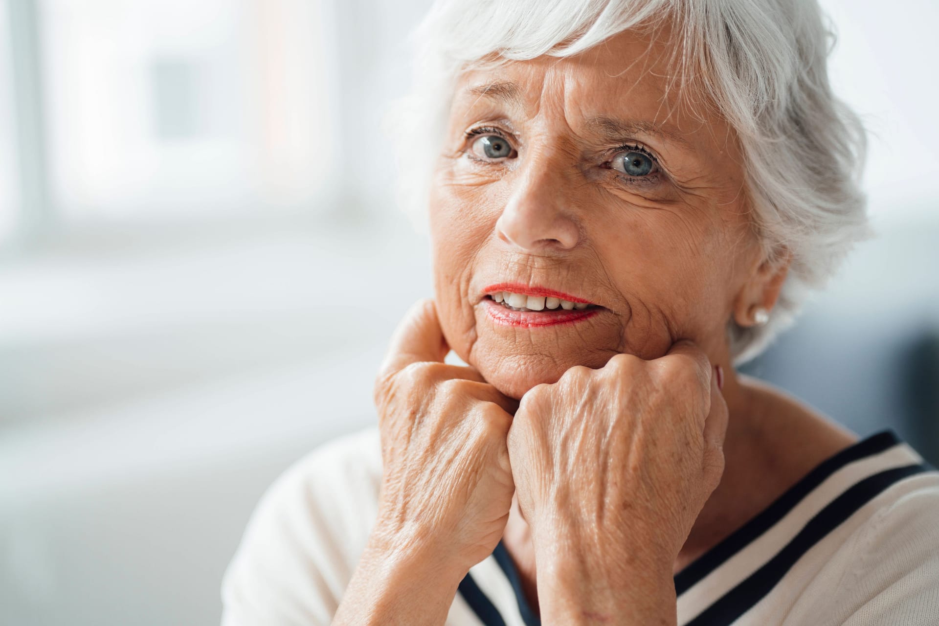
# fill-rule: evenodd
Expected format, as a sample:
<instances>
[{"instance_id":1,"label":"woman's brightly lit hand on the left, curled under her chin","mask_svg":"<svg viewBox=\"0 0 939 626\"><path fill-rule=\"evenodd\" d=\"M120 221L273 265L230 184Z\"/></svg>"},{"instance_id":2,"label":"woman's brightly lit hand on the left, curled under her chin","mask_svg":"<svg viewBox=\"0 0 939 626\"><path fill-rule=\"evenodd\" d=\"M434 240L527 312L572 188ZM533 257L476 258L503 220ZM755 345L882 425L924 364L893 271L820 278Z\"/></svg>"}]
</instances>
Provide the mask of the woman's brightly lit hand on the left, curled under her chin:
<instances>
[{"instance_id":1,"label":"woman's brightly lit hand on the left, curled under her chin","mask_svg":"<svg viewBox=\"0 0 939 626\"><path fill-rule=\"evenodd\" d=\"M415 304L395 331L375 403L382 478L377 536L421 547L459 571L489 556L515 484L506 439L517 408L470 367L443 362L449 347L434 301Z\"/></svg>"}]
</instances>

